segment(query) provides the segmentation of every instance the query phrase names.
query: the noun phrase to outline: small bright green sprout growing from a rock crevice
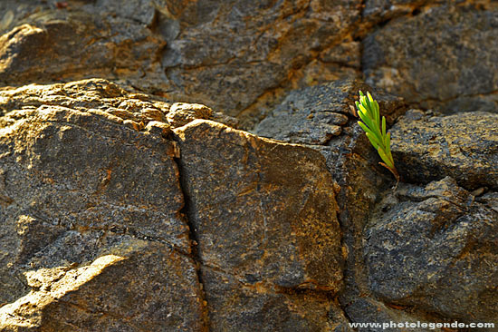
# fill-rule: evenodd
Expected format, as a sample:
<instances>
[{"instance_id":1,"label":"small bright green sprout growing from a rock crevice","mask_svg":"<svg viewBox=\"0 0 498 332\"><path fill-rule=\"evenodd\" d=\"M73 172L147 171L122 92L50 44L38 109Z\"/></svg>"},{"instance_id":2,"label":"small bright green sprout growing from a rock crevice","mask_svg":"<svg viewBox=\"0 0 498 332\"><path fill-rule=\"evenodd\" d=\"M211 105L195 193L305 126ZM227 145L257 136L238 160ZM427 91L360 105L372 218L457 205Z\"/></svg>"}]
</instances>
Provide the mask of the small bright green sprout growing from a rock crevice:
<instances>
[{"instance_id":1,"label":"small bright green sprout growing from a rock crevice","mask_svg":"<svg viewBox=\"0 0 498 332\"><path fill-rule=\"evenodd\" d=\"M387 168L393 173L396 180L399 182L399 174L394 166L394 160L391 154L391 134L386 132L386 117L382 117L380 122L380 112L378 103L372 98L370 93L367 95L359 92L359 102L356 102L358 114L361 121L359 126L366 132L372 146L378 151L380 159L384 162L379 162L380 165Z\"/></svg>"}]
</instances>

